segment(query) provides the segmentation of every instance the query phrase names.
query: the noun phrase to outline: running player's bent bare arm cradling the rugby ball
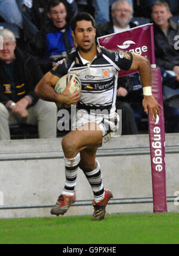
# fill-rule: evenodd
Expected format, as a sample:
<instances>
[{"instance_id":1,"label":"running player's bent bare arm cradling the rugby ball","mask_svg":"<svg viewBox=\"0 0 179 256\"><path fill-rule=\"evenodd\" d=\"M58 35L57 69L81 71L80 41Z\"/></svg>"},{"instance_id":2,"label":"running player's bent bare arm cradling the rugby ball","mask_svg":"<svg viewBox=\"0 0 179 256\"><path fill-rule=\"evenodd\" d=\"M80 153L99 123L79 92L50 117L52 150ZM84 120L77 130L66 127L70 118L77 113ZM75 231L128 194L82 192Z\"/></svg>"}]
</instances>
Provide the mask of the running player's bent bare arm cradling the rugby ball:
<instances>
[{"instance_id":1,"label":"running player's bent bare arm cradling the rugby ball","mask_svg":"<svg viewBox=\"0 0 179 256\"><path fill-rule=\"evenodd\" d=\"M58 80L59 77L53 75L51 72L45 74L35 88L36 95L39 98L50 102L61 102L68 105L77 103L79 98L81 97L81 90L73 94L70 93L69 87L71 82L69 82L64 92L60 95L54 90L54 86L55 84L57 84Z\"/></svg>"}]
</instances>

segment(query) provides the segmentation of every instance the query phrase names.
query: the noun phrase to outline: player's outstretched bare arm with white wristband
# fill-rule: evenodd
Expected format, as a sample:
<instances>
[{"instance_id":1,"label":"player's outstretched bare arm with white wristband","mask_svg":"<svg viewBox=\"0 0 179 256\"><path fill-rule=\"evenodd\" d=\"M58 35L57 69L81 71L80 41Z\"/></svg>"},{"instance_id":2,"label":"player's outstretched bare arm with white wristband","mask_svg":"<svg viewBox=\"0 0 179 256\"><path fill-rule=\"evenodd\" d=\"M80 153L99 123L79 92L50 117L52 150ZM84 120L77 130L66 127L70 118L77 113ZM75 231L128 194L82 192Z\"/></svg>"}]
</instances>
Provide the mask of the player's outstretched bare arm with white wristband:
<instances>
[{"instance_id":1,"label":"player's outstretched bare arm with white wristband","mask_svg":"<svg viewBox=\"0 0 179 256\"><path fill-rule=\"evenodd\" d=\"M140 56L139 54L132 53L133 61L130 70L138 69L140 72L141 83L143 85L144 99L143 107L144 111L150 112L150 116L156 118L156 114L161 115L162 106L152 96L152 69L149 60Z\"/></svg>"}]
</instances>

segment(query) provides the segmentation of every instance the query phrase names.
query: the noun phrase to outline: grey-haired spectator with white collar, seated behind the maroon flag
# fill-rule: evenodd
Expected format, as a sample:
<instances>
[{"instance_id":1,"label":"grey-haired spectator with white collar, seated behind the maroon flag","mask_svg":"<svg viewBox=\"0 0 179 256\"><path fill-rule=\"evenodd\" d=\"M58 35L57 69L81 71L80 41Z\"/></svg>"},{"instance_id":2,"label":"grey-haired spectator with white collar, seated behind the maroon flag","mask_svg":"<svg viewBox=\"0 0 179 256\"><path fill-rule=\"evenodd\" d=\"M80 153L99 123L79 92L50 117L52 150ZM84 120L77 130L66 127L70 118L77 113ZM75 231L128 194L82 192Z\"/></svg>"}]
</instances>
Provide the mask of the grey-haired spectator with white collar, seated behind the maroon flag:
<instances>
[{"instance_id":1,"label":"grey-haired spectator with white collar, seated behind the maroon flag","mask_svg":"<svg viewBox=\"0 0 179 256\"><path fill-rule=\"evenodd\" d=\"M104 36L110 33L126 31L135 27L131 23L132 7L126 0L116 1L112 5L112 22L106 22L97 26L97 36ZM137 126L134 120L134 113L126 100L129 92L128 77L118 79L118 97L116 108L122 109L122 135L137 134Z\"/></svg>"}]
</instances>

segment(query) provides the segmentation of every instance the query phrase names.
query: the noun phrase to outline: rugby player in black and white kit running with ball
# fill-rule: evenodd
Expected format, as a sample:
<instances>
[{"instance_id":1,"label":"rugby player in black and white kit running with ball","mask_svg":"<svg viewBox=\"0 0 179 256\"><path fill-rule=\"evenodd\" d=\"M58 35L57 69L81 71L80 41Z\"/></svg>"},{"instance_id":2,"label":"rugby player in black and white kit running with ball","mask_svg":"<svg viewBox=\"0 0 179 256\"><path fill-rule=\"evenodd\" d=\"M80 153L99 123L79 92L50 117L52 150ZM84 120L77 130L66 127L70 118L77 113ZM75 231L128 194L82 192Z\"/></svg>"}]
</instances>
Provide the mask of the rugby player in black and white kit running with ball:
<instances>
[{"instance_id":1,"label":"rugby player in black and white kit running with ball","mask_svg":"<svg viewBox=\"0 0 179 256\"><path fill-rule=\"evenodd\" d=\"M162 108L152 96L152 72L149 61L135 53L110 51L100 47L95 41L95 22L87 13L79 13L72 19L72 35L78 45L67 59L57 63L36 86L36 94L44 100L76 104L76 122L72 132L64 136L62 147L66 170L66 182L56 205L51 209L53 215L63 215L75 202L75 185L78 167L90 182L94 193L93 221L103 220L106 205L113 197L112 192L104 190L100 163L96 160L97 148L109 141L118 129L119 118L115 113L118 72L138 69L144 89L143 106L150 111L152 120L160 115ZM54 91L60 77L75 73L81 80L82 90L71 94L70 82L61 95ZM90 114L93 111L108 111L105 114ZM112 117L112 118L110 118Z\"/></svg>"}]
</instances>

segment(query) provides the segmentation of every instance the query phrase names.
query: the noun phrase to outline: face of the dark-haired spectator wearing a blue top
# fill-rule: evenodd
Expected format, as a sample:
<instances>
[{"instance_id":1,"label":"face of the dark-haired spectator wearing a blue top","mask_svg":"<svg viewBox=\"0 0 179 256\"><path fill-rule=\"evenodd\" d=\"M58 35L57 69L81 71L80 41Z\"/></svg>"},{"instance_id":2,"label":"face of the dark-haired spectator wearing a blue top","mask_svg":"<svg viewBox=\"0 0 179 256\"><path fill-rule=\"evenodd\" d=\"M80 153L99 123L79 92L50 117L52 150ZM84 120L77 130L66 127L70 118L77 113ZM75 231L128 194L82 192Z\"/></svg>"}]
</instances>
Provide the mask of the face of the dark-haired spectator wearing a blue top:
<instances>
[{"instance_id":1,"label":"face of the dark-haired spectator wearing a blue top","mask_svg":"<svg viewBox=\"0 0 179 256\"><path fill-rule=\"evenodd\" d=\"M55 7L51 7L48 13L48 17L52 20L54 26L59 29L66 25L66 16L66 7L62 2Z\"/></svg>"}]
</instances>

